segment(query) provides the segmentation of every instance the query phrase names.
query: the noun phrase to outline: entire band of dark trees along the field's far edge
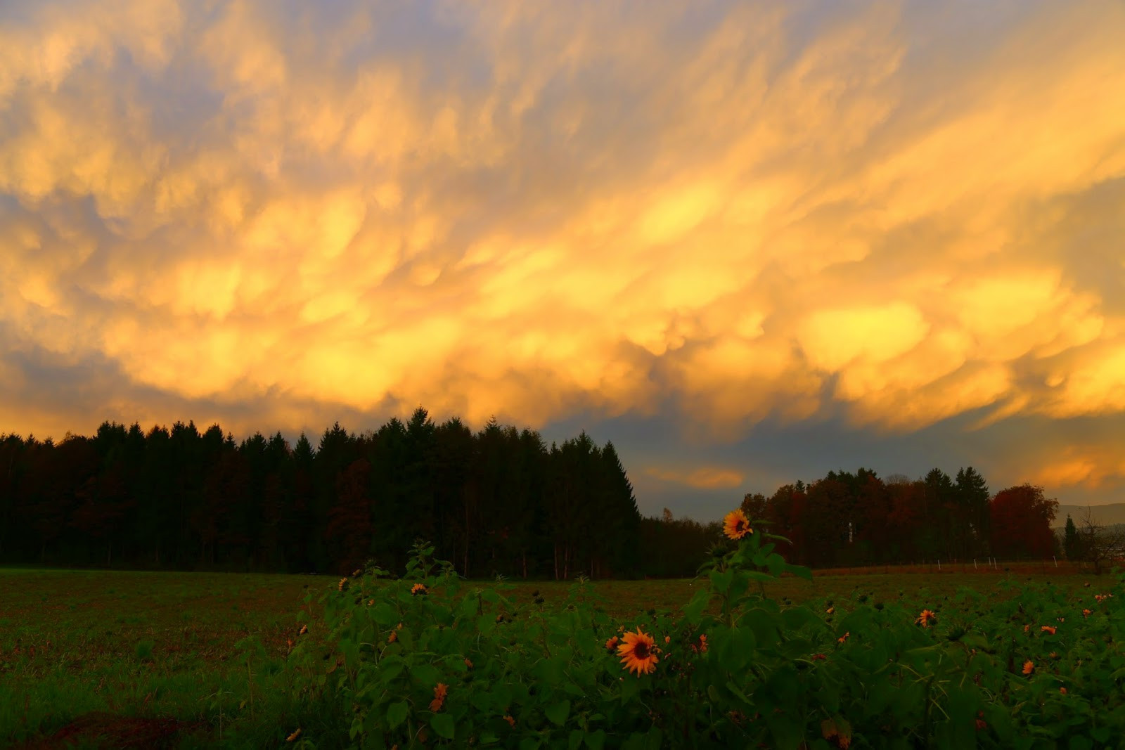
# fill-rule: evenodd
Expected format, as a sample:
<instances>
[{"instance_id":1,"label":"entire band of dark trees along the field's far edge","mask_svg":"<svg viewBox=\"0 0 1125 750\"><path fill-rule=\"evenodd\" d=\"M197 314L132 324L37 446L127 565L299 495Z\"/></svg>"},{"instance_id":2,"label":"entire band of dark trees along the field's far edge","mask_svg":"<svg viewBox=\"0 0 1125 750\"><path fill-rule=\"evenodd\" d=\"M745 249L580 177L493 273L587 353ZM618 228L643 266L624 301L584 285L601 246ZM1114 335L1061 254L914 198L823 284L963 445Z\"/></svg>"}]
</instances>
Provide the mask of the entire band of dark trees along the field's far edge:
<instances>
[{"instance_id":1,"label":"entire band of dark trees along the field's far edge","mask_svg":"<svg viewBox=\"0 0 1125 750\"><path fill-rule=\"evenodd\" d=\"M739 505L732 498L731 507ZM910 480L830 471L741 508L816 568L1050 557L1058 503L1023 485L991 495L971 467ZM468 578L692 576L719 522L641 517L613 444L561 445L495 419L474 433L424 408L314 444L235 441L194 423L91 437L0 437L0 562L343 573L400 570L415 540Z\"/></svg>"}]
</instances>

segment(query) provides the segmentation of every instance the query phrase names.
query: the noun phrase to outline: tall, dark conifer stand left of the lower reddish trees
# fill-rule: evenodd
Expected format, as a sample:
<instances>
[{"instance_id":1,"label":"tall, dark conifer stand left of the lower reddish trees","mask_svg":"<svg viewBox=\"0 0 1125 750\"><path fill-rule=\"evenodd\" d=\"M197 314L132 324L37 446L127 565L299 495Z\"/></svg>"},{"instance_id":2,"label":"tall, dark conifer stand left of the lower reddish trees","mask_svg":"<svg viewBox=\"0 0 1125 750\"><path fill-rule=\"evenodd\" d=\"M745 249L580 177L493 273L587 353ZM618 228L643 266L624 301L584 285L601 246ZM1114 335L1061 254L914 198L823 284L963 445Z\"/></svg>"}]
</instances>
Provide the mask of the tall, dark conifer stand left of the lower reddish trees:
<instances>
[{"instance_id":1,"label":"tall, dark conifer stand left of the lower reddish trees","mask_svg":"<svg viewBox=\"0 0 1125 750\"><path fill-rule=\"evenodd\" d=\"M0 439L0 561L166 569L402 570L424 539L467 577L637 576L640 514L612 443L549 448L418 408L318 444L218 425Z\"/></svg>"}]
</instances>

